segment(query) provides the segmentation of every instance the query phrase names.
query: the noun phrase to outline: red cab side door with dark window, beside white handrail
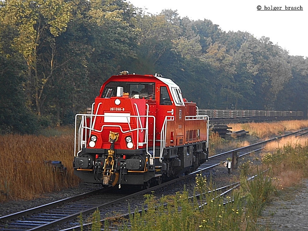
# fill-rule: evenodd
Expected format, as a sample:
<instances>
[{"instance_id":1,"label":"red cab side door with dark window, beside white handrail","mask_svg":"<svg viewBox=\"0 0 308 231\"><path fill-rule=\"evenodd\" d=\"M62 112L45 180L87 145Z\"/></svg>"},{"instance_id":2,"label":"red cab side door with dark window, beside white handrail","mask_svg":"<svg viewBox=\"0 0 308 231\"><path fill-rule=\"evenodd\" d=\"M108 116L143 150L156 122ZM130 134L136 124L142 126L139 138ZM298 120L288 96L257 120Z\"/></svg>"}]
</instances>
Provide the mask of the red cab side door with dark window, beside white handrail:
<instances>
[{"instance_id":1,"label":"red cab side door with dark window, beside white handrail","mask_svg":"<svg viewBox=\"0 0 308 231\"><path fill-rule=\"evenodd\" d=\"M162 128L167 123L165 132L165 146L173 146L175 144L175 123L174 117L176 114L175 104L172 99L169 87L166 85L157 86L157 107L156 107L156 140L161 140ZM162 137L164 139L164 137Z\"/></svg>"}]
</instances>

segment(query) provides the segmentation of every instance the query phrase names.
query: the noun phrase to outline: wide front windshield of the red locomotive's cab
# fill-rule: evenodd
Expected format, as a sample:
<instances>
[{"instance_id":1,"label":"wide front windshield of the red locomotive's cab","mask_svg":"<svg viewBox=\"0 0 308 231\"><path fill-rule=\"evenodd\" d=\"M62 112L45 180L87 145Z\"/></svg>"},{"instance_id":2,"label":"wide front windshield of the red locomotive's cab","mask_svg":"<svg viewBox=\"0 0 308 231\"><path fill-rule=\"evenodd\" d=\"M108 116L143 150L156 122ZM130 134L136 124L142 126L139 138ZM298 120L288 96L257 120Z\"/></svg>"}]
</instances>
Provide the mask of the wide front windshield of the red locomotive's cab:
<instances>
[{"instance_id":1,"label":"wide front windshield of the red locomotive's cab","mask_svg":"<svg viewBox=\"0 0 308 231\"><path fill-rule=\"evenodd\" d=\"M136 82L110 82L106 85L101 98L115 97L117 87L123 87L123 97L155 99L155 83Z\"/></svg>"}]
</instances>

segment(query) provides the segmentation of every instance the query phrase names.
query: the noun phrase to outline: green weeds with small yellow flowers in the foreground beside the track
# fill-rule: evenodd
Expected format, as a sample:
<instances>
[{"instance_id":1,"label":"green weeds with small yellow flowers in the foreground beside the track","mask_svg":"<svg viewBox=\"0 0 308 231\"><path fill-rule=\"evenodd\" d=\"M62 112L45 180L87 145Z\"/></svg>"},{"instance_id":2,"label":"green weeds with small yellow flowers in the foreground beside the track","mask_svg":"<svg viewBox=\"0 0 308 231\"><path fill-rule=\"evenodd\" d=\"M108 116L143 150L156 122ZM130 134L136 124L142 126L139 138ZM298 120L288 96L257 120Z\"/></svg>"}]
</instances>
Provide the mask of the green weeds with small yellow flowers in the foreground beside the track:
<instances>
[{"instance_id":1,"label":"green weeds with small yellow flowers in the foreground beside the track","mask_svg":"<svg viewBox=\"0 0 308 231\"><path fill-rule=\"evenodd\" d=\"M196 190L203 205L188 197L188 192L157 199L146 195L145 209L130 216L131 230L256 230L256 219L274 191L271 180L259 172L253 181L242 180L241 190L226 198L211 190L206 177L196 176ZM210 191L209 191L210 190ZM244 195L244 197L243 197Z\"/></svg>"}]
</instances>

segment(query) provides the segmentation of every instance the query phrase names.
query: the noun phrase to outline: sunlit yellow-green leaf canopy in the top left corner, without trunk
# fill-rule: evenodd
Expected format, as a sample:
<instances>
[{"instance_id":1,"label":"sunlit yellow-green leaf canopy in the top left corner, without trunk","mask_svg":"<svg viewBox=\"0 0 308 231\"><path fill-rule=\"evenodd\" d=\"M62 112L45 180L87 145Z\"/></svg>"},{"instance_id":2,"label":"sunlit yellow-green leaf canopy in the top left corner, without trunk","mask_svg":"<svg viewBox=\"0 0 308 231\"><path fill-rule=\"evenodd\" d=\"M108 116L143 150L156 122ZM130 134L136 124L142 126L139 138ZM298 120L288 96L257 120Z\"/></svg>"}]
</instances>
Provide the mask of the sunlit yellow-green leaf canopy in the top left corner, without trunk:
<instances>
[{"instance_id":1,"label":"sunlit yellow-green leaf canopy in the top left corner, without trunk","mask_svg":"<svg viewBox=\"0 0 308 231\"><path fill-rule=\"evenodd\" d=\"M44 30L58 36L67 27L70 19L70 4L62 0L2 2L0 8L1 24L10 25L18 30L12 46L26 59L29 68L35 68L36 51Z\"/></svg>"}]
</instances>

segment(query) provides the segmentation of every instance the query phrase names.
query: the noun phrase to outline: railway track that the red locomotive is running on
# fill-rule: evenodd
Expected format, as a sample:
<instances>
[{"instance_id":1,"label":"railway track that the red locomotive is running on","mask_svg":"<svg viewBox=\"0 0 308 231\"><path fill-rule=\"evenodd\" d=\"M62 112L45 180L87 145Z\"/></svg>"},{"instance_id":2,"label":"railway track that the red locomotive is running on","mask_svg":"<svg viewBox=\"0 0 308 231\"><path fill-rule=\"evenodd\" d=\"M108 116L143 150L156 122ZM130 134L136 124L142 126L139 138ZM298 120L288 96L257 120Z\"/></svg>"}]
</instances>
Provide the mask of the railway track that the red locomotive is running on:
<instances>
[{"instance_id":1,"label":"railway track that the red locomotive is running on","mask_svg":"<svg viewBox=\"0 0 308 231\"><path fill-rule=\"evenodd\" d=\"M55 229L52 227L54 227L55 225L58 225L58 227L60 227L59 226L60 224L76 219L80 215L80 212L82 212L83 216L85 216L87 214L93 213L97 208L100 211L108 210L108 207L110 207L111 205L120 205L120 207L125 207L122 208L123 209L122 214L125 214L125 211L127 211L128 209L126 209L127 206L121 206L121 202L123 201L125 201L125 204L127 204L128 200L134 200L133 198L140 197L145 193L154 191L158 188L175 184L178 181L187 179L189 177L193 177L197 173L209 170L210 168L214 168L215 166L221 164L221 162L226 162L227 158L231 157L234 158L234 156L236 156L237 158L245 156L251 152L256 152L258 150L261 150L262 145L267 142L276 139L281 139L282 137L291 135L294 136L300 134L304 135L307 133L307 131L308 131L307 128L302 129L297 132L292 132L283 136L274 137L272 139L261 141L256 144L252 144L246 147L237 148L228 152L223 152L215 156L211 156L209 157L209 161L202 164L195 172L192 172L186 176L170 180L163 184L156 185L154 187L136 193L131 193L129 195L123 196L122 194L119 193L108 193L108 188L102 188L99 190L84 193L79 196L70 197L67 199L49 203L47 205L35 207L33 209L28 209L18 213L3 216L0 217L0 230L3 231L59 230L58 228ZM104 193L103 197L102 195L100 195L101 193ZM75 230L78 230L78 226L76 226L74 223L72 223L71 226L74 226L73 228ZM72 229L64 229L64 230L72 230Z\"/></svg>"}]
</instances>

